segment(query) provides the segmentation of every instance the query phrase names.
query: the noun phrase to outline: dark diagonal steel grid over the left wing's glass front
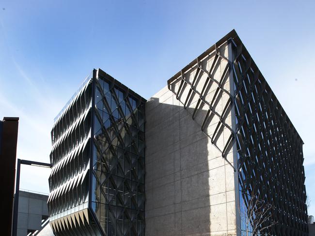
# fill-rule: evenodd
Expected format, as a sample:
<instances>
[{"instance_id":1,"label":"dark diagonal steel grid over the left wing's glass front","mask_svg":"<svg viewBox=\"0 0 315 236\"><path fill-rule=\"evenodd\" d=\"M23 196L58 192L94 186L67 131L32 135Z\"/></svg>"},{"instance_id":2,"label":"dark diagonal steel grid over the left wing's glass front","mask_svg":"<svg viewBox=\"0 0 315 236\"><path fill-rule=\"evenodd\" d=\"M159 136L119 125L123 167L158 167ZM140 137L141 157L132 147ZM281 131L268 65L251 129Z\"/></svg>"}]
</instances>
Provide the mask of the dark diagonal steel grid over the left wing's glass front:
<instances>
[{"instance_id":1,"label":"dark diagonal steel grid over the left wing's glass front","mask_svg":"<svg viewBox=\"0 0 315 236\"><path fill-rule=\"evenodd\" d=\"M111 94L111 96L112 96L112 99L114 99L114 101L115 101L115 104L117 104L117 110L118 110L118 113L121 115L121 121L124 123L124 127L125 127L125 125L127 125L127 123L128 123L128 121L127 121L127 119L126 119L126 117L124 117L124 111L123 111L123 109L122 109L122 107L121 107L121 102L119 101L119 98L118 98L118 95L116 94L116 92L114 91L114 89L119 89L120 91L123 91L123 93L124 93L124 98L123 98L123 101L125 101L125 103L126 103L126 107L128 107L128 109L130 110L130 111L135 111L132 107L133 107L133 104L131 104L131 103L129 103L129 98L133 98L133 99L137 99L137 101L138 101L138 106L135 108L135 109L141 109L142 111L142 113L143 113L143 123L142 123L142 125L143 125L143 144L144 144L144 122L145 122L145 114L144 114L144 103L146 102L146 100L145 99L143 99L141 96L139 96L138 94L136 94L135 92L133 92L132 90L130 90L129 88L127 88L126 86L124 86L123 84L121 84L119 81L117 81L117 80L115 80L114 78L112 78L109 74L106 74L105 72L103 72L103 71L101 71L100 69L98 69L98 71L97 71L97 74L96 74L96 78L98 78L98 79L100 79L100 80L103 80L105 83L108 83L109 85L110 85L110 87L109 87L109 91L107 92L107 93L110 93ZM111 114L111 112L110 112L110 110L111 110L111 105L108 103L108 100L107 99L105 99L105 97L106 97L106 94L104 93L103 94L103 88L102 88L102 86L98 83L98 82L96 82L97 80L95 79L95 89L97 89L97 91L98 92L100 92L100 95L101 95L101 97L103 97L103 99L102 99L102 103L103 103L103 109L105 109L107 112L109 112L110 114ZM94 96L95 96L95 94L94 94ZM100 101L99 101L100 102ZM94 107L94 115L96 116L96 117L98 117L98 121L99 120L102 120L102 118L99 116L99 113L98 113L98 109L96 108L96 101L95 101L95 107ZM142 107L142 108L141 108ZM126 108L127 109L127 108ZM139 123L138 123L138 121L137 121L137 119L138 118L136 118L135 117L135 114L133 113L133 112L131 112L131 116L130 116L130 118L132 119L132 122L133 123L135 123L136 125L137 125L137 130L138 131L140 131L140 127L139 127ZM115 123L117 123L117 120L115 120L115 118L113 117L113 115L110 115L110 120L111 120L111 122L112 122L112 128L114 129L114 130L116 130L116 132L117 132L117 135L115 135L115 137L117 137L118 138L118 142L120 142L120 143L122 143L122 144L124 144L124 138L121 136L121 134L119 133L119 128L118 128L118 126L116 126L116 124ZM106 120L103 120L103 122L106 122ZM103 127L104 128L104 127ZM133 129L133 128L132 128ZM94 127L94 133L96 132L96 130L95 130L95 127ZM128 133L128 135L130 135L131 137L132 137L132 133L131 133L131 131L130 130L128 130L128 129L126 129L126 133ZM112 139L112 137L110 137L110 135L109 135L109 133L106 131L106 130L103 130L102 131L102 133L101 133L101 135L102 135L102 138L101 139L105 139L106 141L108 141L109 142L109 146L108 146L108 148L107 148L107 150L110 152L110 153L115 153L116 151L113 149L113 146L111 146L110 145L110 143L113 141L113 139ZM96 145L96 143L98 143L98 141L97 141L97 138L95 138L94 137L94 145ZM96 147L96 146L95 146ZM100 154L102 153L102 151L100 151L101 149L102 149L102 146L97 146L98 148L97 148L97 150L98 150L98 152L100 152ZM144 148L144 147L143 147ZM103 154L102 154L103 155ZM114 154L115 155L115 154ZM101 155L100 155L101 156ZM99 158L97 158L97 159L99 159ZM126 160L125 160L126 161ZM96 169L97 170L94 170L93 172L91 172L91 174L92 174L92 177L94 176L94 177L96 177L97 176L97 174L96 174L96 172L97 173L100 173L99 172L99 170L101 170L101 172L102 173L108 173L109 175L106 177L106 179L104 180L104 181L98 181L98 184L100 185L100 186L103 186L103 184L104 184L104 182L105 181L111 181L111 183L113 184L112 185L112 187L114 188L114 189L116 189L117 191L118 191L118 183L115 181L115 178L119 178L118 177L118 173L117 173L117 176L116 176L116 174L112 174L111 173L111 168L110 168L110 165L107 165L106 164L106 161L105 160L100 160L100 162L103 162L103 163L105 163L105 165L103 165L102 164L102 166L104 167L101 167L100 169L99 169L99 167L96 167L95 165L94 165L94 167L92 168L92 169L95 169L95 167L96 167ZM91 162L92 163L92 162ZM131 163L131 162L130 162ZM94 163L93 163L94 164ZM119 165L119 163L117 163L117 168L119 168L118 167L118 165ZM139 164L138 164L138 167L139 167ZM142 231L140 231L140 232L138 232L139 231L139 225L138 225L138 221L137 221L137 225L136 225L136 229L134 228L134 226L133 226L133 220L131 219L131 215L129 216L130 217L130 219L129 219L129 221L130 221L130 226L129 226L129 231L128 232L124 232L123 234L124 235L139 235L139 236L141 236L141 235L143 235L144 234L144 149L143 149L143 166L142 166L142 169L143 169L143 181L142 181L142 183L143 183L143 208L142 209L138 209L138 205L137 205L137 203L136 203L136 205L138 206L137 207L137 210L138 210L138 213L137 214L140 214L141 212L142 212L142 222L143 222L143 225L142 225ZM125 173L126 174L126 173ZM97 177L96 177L97 178ZM125 177L125 185L124 185L124 189L125 189L125 187L126 187L126 184L127 184L127 182L128 182L128 177L126 178ZM103 179L102 179L103 180ZM131 181L131 178L130 178L130 181ZM132 181L131 181L132 182ZM131 183L130 183L131 184ZM92 186L93 184L91 184L91 186ZM131 186L131 185L130 185ZM132 188L130 187L130 189L129 189L130 191L132 191ZM100 194L103 194L103 195L100 195L100 197L102 197L103 196L103 199L105 199L105 202L106 202L106 204L104 204L104 205L106 205L106 206L108 206L108 214L110 214L110 212L111 212L111 210L110 210L110 208L111 207L115 207L114 205L112 205L112 204L110 204L110 199L107 199L107 197L106 197L106 195L107 195L107 193L105 193L105 192L103 192L103 191L101 191L100 192ZM119 198L119 194L118 194L118 192L117 192L117 198ZM101 198L100 198L101 199ZM121 199L121 197L119 198L119 199ZM92 200L92 197L91 197L91 200ZM131 199L131 201L132 201L132 199ZM101 203L102 201L100 201L100 203ZM104 203L104 202L103 202ZM131 203L131 202L130 202ZM94 203L95 204L95 203ZM139 201L138 201L138 204L139 204ZM97 203L96 203L96 205L97 205ZM103 206L103 204L101 204L102 206ZM126 206L125 206L126 207ZM126 210L124 209L124 212L126 211L128 211L128 209L127 209L128 207L126 207ZM91 209L93 209L93 207L91 206ZM118 208L117 208L118 209ZM129 209L129 211L131 210L131 213L134 211L133 209ZM118 211L118 210L117 210ZM115 213L113 213L113 212L111 212L113 215L116 215L116 212ZM118 213L117 213L118 214ZM125 213L124 213L125 214ZM126 213L127 214L127 213ZM133 214L133 213L132 213ZM94 214L94 216L95 216L95 214ZM125 216L125 215L124 215ZM96 217L96 216L95 216ZM140 217L140 215L139 215L139 217ZM118 219L116 219L116 221L117 221ZM125 221L125 219L123 220L123 222ZM99 224L99 222L97 221L97 223ZM109 225L109 224L107 224L107 225ZM125 225L125 224L124 224ZM101 226L100 224L99 224L99 226ZM101 229L102 227L100 227L100 229ZM120 229L119 228L119 226L118 226L118 223L115 223L115 225L114 225L114 231L115 231L115 234L118 236L118 235L120 235L125 229ZM133 230L133 231L132 231ZM119 233L120 232L120 233ZM107 235L107 233L106 232L103 232L103 233L105 233L106 235ZM111 235L111 234L109 234L109 235Z\"/></svg>"}]
</instances>

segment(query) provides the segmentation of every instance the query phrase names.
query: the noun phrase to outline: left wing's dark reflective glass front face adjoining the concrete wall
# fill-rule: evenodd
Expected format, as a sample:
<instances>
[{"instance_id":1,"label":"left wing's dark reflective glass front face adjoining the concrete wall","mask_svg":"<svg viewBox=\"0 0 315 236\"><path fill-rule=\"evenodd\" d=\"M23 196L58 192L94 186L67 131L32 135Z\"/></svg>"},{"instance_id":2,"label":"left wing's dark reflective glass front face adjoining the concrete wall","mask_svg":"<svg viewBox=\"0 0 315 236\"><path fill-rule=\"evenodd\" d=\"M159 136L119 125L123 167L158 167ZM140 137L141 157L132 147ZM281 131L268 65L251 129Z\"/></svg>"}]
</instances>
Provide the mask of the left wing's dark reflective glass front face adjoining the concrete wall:
<instances>
[{"instance_id":1,"label":"left wing's dark reflective glass front face adjoining the concrete wall","mask_svg":"<svg viewBox=\"0 0 315 236\"><path fill-rule=\"evenodd\" d=\"M93 212L108 236L142 236L144 101L105 74L94 99Z\"/></svg>"}]
</instances>

